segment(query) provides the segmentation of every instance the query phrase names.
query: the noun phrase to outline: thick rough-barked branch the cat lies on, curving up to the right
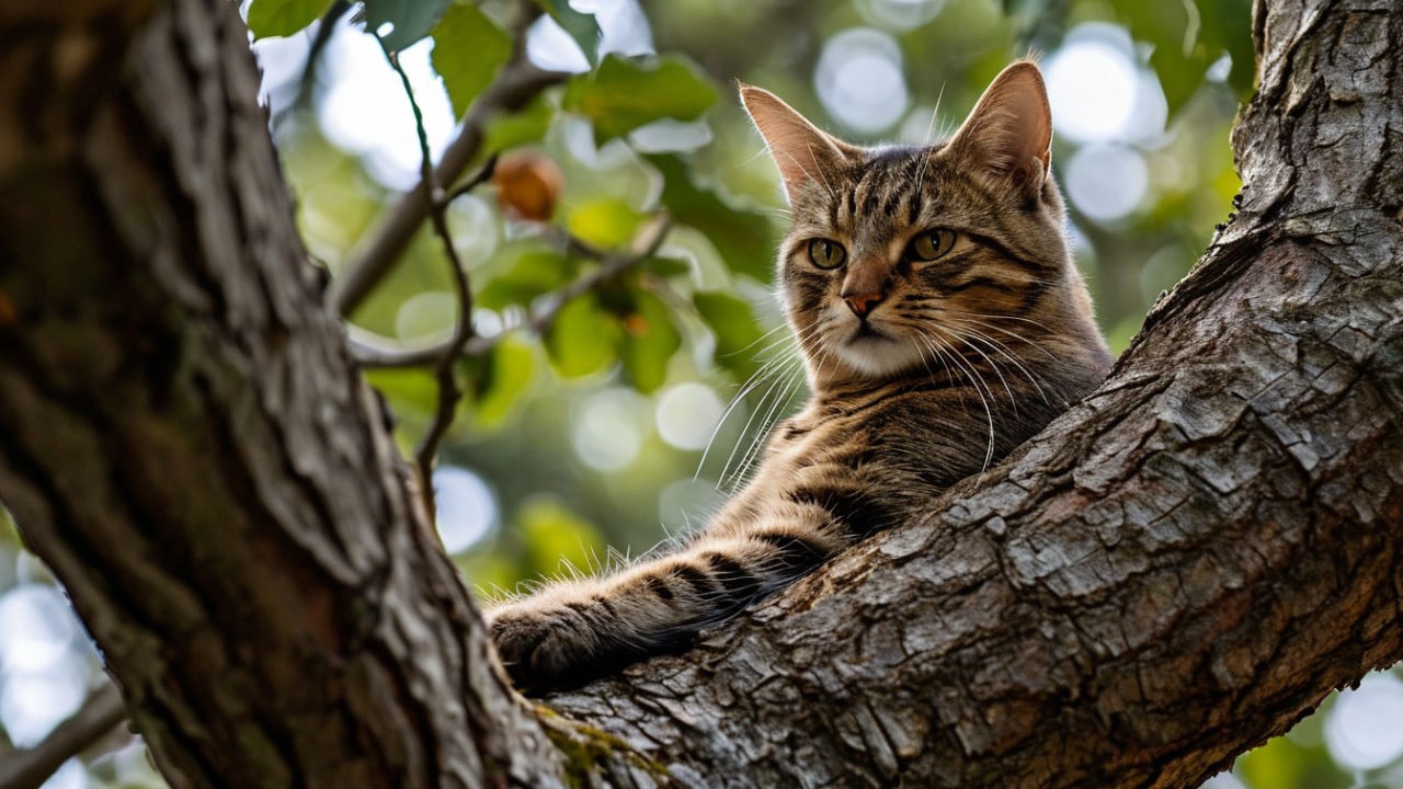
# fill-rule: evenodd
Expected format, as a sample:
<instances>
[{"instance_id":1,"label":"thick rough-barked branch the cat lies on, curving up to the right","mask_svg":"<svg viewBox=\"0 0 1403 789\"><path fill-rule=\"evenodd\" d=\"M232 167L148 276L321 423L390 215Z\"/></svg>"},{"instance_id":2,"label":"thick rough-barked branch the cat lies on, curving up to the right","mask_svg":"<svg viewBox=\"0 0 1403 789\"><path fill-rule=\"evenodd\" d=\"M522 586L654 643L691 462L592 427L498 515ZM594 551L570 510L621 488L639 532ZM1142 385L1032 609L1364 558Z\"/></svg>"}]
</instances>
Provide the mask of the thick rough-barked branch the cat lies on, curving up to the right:
<instances>
[{"instance_id":1,"label":"thick rough-barked branch the cat lies on, curving up to the right","mask_svg":"<svg viewBox=\"0 0 1403 789\"><path fill-rule=\"evenodd\" d=\"M1403 14L1257 6L1242 215L1106 386L683 657L549 699L689 786L1194 786L1403 658Z\"/></svg>"}]
</instances>

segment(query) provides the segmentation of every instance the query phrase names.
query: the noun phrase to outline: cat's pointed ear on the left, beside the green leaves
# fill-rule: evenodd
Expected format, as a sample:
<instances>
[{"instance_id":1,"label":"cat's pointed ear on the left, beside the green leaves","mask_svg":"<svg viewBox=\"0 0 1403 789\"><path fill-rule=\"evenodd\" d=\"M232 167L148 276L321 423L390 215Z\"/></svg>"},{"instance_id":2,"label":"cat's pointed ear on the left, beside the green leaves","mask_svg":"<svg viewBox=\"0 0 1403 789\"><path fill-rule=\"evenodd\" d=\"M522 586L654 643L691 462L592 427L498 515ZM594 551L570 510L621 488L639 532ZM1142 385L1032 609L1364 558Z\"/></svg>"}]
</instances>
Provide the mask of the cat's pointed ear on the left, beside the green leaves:
<instances>
[{"instance_id":1,"label":"cat's pointed ear on the left, beside the green leaves","mask_svg":"<svg viewBox=\"0 0 1403 789\"><path fill-rule=\"evenodd\" d=\"M859 147L829 136L767 90L742 83L741 104L780 168L790 205L814 185L828 188L829 171L861 159Z\"/></svg>"}]
</instances>

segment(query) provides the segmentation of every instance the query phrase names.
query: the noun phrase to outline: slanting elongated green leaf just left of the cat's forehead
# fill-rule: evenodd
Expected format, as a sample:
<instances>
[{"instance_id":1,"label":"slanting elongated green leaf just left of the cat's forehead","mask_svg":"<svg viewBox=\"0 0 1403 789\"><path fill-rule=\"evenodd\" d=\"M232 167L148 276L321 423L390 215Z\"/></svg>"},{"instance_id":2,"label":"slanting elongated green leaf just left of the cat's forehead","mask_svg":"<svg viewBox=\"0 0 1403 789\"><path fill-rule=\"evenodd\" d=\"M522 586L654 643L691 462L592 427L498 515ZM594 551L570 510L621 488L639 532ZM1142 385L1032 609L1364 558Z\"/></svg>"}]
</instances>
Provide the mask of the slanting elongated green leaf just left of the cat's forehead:
<instances>
[{"instance_id":1,"label":"slanting elongated green leaf just left of the cat's forehead","mask_svg":"<svg viewBox=\"0 0 1403 789\"><path fill-rule=\"evenodd\" d=\"M696 227L731 271L769 282L776 232L769 215L734 205L692 180L692 168L675 154L647 157L662 174L662 205L676 222Z\"/></svg>"}]
</instances>

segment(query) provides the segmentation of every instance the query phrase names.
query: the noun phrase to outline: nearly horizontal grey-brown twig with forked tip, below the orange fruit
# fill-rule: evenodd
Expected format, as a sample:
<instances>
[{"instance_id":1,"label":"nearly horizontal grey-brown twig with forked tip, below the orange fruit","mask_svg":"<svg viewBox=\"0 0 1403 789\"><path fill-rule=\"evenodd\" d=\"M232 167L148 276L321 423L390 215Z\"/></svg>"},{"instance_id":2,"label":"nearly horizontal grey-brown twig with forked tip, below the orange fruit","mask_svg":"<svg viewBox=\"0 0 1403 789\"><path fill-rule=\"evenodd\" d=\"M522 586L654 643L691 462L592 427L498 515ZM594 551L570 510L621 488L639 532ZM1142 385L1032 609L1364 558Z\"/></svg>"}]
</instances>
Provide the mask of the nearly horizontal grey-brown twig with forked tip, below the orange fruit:
<instances>
[{"instance_id":1,"label":"nearly horizontal grey-brown twig with forked tip, below the orange fruit","mask_svg":"<svg viewBox=\"0 0 1403 789\"><path fill-rule=\"evenodd\" d=\"M585 274L570 285L561 288L556 293L550 306L529 316L521 324L498 331L491 337L473 337L466 345L463 345L462 354L469 358L487 355L492 351L492 348L499 345L508 334L516 331L518 329L526 329L536 334L544 333L556 321L556 316L560 314L560 310L564 309L567 303L655 256L658 248L661 248L662 243L666 240L668 230L671 229L672 223L668 216L658 215L658 218L654 219L648 229L643 233L644 240L641 243L641 248L636 244L638 251L605 253L591 247L585 241L565 233L564 230L551 227L550 234L557 240L558 246L563 246L567 251L581 257L598 260L600 263L599 268L595 268L589 274ZM349 341L351 352L355 355L356 362L365 368L422 366L441 358L450 343L450 340L443 340L421 348L405 348L383 337L355 329L351 331Z\"/></svg>"}]
</instances>

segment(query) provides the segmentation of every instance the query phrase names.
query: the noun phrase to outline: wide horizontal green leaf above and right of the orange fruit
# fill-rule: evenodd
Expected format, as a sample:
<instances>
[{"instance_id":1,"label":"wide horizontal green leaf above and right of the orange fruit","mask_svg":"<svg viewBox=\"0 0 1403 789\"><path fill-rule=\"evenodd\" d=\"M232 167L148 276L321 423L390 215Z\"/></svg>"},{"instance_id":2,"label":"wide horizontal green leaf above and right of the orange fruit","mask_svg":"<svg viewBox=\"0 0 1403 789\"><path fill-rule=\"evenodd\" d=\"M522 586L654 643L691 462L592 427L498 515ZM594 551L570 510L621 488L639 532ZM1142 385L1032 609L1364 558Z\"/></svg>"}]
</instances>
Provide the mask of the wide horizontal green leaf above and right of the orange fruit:
<instances>
[{"instance_id":1,"label":"wide horizontal green leaf above and right of the orange fruit","mask_svg":"<svg viewBox=\"0 0 1403 789\"><path fill-rule=\"evenodd\" d=\"M636 62L609 55L598 70L565 87L563 105L589 118L595 143L603 145L661 118L696 121L716 98L716 88L690 60Z\"/></svg>"}]
</instances>

